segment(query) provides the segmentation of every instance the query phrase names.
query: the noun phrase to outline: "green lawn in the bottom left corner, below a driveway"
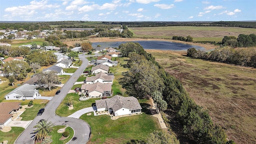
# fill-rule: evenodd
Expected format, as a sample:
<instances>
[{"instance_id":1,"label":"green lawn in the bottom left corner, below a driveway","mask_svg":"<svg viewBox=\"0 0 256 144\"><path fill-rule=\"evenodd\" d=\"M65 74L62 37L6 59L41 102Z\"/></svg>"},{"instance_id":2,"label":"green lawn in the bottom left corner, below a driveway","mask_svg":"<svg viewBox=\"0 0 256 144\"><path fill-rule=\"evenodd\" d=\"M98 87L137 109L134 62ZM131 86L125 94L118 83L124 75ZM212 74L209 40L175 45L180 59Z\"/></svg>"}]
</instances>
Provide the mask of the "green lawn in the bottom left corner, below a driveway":
<instances>
[{"instance_id":1,"label":"green lawn in the bottom left corner, below a driveway","mask_svg":"<svg viewBox=\"0 0 256 144\"><path fill-rule=\"evenodd\" d=\"M25 130L22 127L12 127L10 132L2 132L0 131L0 142L4 140L8 140L8 144L14 144L15 140L18 136Z\"/></svg>"}]
</instances>

